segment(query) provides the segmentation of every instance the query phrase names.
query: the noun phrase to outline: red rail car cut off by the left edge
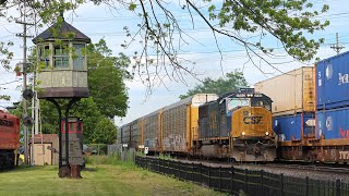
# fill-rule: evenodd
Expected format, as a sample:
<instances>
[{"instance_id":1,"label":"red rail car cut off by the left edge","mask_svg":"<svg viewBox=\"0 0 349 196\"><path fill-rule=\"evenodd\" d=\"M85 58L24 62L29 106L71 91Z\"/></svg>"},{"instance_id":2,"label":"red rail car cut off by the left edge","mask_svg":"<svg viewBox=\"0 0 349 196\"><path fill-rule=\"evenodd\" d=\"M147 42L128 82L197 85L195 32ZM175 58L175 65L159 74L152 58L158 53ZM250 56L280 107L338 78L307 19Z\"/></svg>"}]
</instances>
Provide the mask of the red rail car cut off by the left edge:
<instances>
[{"instance_id":1,"label":"red rail car cut off by the left edge","mask_svg":"<svg viewBox=\"0 0 349 196\"><path fill-rule=\"evenodd\" d=\"M15 166L20 148L20 119L0 110L0 170Z\"/></svg>"}]
</instances>

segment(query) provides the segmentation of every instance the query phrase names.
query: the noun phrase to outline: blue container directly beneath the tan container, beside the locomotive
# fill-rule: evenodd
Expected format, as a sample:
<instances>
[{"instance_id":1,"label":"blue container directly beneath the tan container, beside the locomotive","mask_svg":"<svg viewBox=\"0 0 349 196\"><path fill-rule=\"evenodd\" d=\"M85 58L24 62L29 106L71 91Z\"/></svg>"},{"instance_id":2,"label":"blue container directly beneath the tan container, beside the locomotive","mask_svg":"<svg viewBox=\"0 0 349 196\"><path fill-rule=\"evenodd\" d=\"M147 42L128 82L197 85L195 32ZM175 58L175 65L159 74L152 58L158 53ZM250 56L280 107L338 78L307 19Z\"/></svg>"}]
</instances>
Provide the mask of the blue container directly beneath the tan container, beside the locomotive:
<instances>
[{"instance_id":1,"label":"blue container directly beneath the tan container, beside the locomotive","mask_svg":"<svg viewBox=\"0 0 349 196\"><path fill-rule=\"evenodd\" d=\"M298 113L273 118L273 130L278 140L300 140L315 137L315 115L312 113ZM302 124L303 123L303 124Z\"/></svg>"}]
</instances>

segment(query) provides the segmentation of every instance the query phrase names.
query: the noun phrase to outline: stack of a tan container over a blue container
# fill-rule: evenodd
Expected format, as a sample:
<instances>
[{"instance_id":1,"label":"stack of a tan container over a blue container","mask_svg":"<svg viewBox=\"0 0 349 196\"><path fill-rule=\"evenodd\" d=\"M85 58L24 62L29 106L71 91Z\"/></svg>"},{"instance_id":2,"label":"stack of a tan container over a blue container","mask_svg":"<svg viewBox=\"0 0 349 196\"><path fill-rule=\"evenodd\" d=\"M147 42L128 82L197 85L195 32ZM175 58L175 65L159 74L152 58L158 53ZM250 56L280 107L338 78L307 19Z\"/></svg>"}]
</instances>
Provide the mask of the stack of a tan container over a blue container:
<instances>
[{"instance_id":1,"label":"stack of a tan container over a blue container","mask_svg":"<svg viewBox=\"0 0 349 196\"><path fill-rule=\"evenodd\" d=\"M315 137L314 68L303 66L260 82L255 91L273 100L273 130L279 140Z\"/></svg>"}]
</instances>

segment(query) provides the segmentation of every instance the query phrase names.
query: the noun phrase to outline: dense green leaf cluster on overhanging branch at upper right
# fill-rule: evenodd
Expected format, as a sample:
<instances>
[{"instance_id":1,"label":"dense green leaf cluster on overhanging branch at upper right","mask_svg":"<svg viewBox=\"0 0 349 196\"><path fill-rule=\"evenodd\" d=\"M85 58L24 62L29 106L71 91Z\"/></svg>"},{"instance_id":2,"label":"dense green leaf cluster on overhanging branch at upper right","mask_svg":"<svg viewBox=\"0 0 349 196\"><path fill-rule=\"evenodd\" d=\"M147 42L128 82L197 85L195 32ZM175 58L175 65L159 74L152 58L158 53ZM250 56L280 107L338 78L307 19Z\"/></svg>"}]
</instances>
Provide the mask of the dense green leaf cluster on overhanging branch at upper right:
<instances>
[{"instance_id":1,"label":"dense green leaf cluster on overhanging branch at upper right","mask_svg":"<svg viewBox=\"0 0 349 196\"><path fill-rule=\"evenodd\" d=\"M212 5L208 11L209 17L218 20L220 27L229 26L239 33L260 34L263 30L279 39L290 56L308 61L314 57L324 39L306 39L304 33L313 34L329 25L328 21L314 20L327 12L328 5L323 5L320 12L312 8L313 4L306 0L232 0L224 1L220 10ZM265 33L262 33L262 37ZM263 52L268 51L260 41L248 45Z\"/></svg>"}]
</instances>

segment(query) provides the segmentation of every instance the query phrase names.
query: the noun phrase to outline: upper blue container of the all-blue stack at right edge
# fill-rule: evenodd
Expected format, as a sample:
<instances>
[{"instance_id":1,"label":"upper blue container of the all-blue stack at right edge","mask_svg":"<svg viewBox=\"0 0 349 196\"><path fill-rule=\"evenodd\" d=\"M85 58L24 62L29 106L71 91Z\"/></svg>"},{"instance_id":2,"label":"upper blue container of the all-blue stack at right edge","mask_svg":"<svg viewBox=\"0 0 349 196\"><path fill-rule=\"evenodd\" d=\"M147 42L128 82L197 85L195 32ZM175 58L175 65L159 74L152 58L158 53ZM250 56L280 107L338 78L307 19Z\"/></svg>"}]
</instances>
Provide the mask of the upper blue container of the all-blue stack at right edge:
<instances>
[{"instance_id":1,"label":"upper blue container of the all-blue stack at right edge","mask_svg":"<svg viewBox=\"0 0 349 196\"><path fill-rule=\"evenodd\" d=\"M318 62L315 83L317 110L349 106L349 52Z\"/></svg>"}]
</instances>

